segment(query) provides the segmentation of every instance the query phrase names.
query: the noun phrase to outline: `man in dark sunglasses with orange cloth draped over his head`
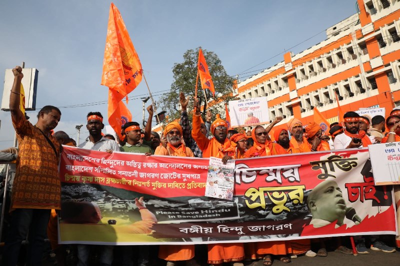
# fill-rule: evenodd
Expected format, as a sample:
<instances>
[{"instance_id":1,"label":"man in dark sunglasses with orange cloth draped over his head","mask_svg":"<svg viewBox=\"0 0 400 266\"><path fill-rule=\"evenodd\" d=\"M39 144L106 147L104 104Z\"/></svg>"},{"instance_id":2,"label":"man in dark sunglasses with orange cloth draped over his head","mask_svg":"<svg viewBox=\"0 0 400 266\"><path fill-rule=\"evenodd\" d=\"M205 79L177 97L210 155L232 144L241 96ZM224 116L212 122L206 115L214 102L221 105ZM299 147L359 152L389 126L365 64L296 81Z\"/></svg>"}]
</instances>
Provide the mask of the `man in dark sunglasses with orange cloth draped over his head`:
<instances>
[{"instance_id":1,"label":"man in dark sunglasses with orange cloth draped over his head","mask_svg":"<svg viewBox=\"0 0 400 266\"><path fill-rule=\"evenodd\" d=\"M254 140L254 145L244 153L244 158L287 154L282 146L267 139L268 132L263 126L253 128L251 137Z\"/></svg>"}]
</instances>

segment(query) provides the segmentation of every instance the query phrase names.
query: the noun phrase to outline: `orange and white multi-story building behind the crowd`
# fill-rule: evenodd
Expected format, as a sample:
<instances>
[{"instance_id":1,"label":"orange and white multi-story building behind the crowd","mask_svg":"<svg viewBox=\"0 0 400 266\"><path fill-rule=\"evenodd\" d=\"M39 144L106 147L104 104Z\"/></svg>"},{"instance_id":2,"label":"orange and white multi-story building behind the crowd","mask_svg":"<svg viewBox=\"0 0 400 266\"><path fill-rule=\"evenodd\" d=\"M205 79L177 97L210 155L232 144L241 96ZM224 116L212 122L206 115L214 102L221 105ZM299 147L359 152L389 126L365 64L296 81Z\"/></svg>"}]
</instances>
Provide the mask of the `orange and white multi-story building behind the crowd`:
<instances>
[{"instance_id":1,"label":"orange and white multi-story building behind the crowd","mask_svg":"<svg viewBox=\"0 0 400 266\"><path fill-rule=\"evenodd\" d=\"M238 83L240 99L266 96L269 116L306 124L313 108L337 121L344 112L400 105L400 0L357 0L359 12L326 30L327 39L287 52L274 66Z\"/></svg>"}]
</instances>

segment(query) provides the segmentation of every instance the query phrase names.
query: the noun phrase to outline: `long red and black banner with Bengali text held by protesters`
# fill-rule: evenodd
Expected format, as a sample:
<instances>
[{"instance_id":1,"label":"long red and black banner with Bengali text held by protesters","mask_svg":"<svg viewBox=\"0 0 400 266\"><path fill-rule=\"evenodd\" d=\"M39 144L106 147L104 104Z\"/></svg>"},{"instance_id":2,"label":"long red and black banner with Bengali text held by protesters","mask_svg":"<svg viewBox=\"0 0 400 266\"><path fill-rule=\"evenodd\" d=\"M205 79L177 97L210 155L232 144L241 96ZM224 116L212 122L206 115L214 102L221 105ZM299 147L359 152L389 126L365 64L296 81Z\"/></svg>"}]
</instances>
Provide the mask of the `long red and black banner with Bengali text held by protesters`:
<instances>
[{"instance_id":1,"label":"long red and black banner with Bengali text held by protesters","mask_svg":"<svg viewBox=\"0 0 400 266\"><path fill-rule=\"evenodd\" d=\"M64 146L60 243L184 245L396 234L392 187L374 186L366 148L236 160L232 200L204 196L208 161ZM134 202L139 197L156 223L142 220Z\"/></svg>"}]
</instances>

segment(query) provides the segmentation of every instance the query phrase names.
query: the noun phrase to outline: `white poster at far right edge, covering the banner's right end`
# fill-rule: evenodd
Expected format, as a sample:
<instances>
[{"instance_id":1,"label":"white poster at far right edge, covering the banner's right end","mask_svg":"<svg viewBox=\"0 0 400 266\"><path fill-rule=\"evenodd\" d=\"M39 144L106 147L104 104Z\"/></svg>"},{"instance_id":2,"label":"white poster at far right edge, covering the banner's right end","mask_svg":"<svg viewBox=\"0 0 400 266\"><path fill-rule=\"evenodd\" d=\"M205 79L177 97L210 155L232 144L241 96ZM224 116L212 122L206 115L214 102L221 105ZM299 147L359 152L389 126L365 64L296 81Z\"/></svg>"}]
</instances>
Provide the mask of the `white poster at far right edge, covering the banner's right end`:
<instances>
[{"instance_id":1,"label":"white poster at far right edge, covering the banner's right end","mask_svg":"<svg viewBox=\"0 0 400 266\"><path fill-rule=\"evenodd\" d=\"M400 184L400 142L368 146L375 185Z\"/></svg>"}]
</instances>

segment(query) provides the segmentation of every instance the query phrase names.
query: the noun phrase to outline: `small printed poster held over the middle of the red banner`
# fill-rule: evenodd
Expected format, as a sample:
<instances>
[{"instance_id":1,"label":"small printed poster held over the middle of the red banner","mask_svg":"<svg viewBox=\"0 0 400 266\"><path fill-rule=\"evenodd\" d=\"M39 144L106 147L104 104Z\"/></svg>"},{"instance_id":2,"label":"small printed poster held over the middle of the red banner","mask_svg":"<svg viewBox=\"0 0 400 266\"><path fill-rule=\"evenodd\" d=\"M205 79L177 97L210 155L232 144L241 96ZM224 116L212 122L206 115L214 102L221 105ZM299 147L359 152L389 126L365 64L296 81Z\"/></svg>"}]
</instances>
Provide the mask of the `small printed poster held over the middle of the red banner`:
<instances>
[{"instance_id":1,"label":"small printed poster held over the middle of the red banner","mask_svg":"<svg viewBox=\"0 0 400 266\"><path fill-rule=\"evenodd\" d=\"M205 196L217 199L233 199L233 172L234 160L228 160L226 164L222 159L210 157L205 185Z\"/></svg>"}]
</instances>

